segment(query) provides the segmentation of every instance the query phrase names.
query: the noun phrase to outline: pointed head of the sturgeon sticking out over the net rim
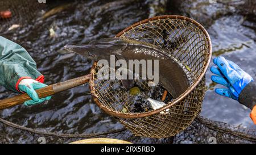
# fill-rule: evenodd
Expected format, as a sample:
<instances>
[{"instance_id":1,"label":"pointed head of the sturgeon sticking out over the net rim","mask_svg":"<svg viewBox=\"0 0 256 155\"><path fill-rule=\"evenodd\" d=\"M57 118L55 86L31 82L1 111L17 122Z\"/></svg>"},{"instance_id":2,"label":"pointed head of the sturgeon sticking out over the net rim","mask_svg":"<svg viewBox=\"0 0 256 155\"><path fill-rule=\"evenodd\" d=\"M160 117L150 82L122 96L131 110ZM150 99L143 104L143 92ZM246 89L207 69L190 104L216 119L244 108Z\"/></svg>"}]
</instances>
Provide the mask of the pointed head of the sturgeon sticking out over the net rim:
<instances>
[{"instance_id":1,"label":"pointed head of the sturgeon sticking out over the net rim","mask_svg":"<svg viewBox=\"0 0 256 155\"><path fill-rule=\"evenodd\" d=\"M107 38L90 41L84 45L66 45L65 50L77 53L94 61L108 60L110 55L121 55L125 41L120 38Z\"/></svg>"}]
</instances>

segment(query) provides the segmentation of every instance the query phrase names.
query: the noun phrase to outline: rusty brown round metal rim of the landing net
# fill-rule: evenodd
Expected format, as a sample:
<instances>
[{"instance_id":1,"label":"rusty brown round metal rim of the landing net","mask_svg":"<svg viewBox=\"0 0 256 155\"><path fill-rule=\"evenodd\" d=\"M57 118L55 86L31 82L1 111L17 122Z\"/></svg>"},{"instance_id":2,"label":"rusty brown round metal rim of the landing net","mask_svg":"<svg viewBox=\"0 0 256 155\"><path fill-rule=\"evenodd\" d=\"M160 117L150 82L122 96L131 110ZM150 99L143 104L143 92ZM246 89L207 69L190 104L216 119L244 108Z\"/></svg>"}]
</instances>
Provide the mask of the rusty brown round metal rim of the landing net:
<instances>
[{"instance_id":1,"label":"rusty brown round metal rim of the landing net","mask_svg":"<svg viewBox=\"0 0 256 155\"><path fill-rule=\"evenodd\" d=\"M147 116L159 114L159 112L164 111L167 108L170 108L170 107L174 106L175 104L181 102L194 89L196 89L196 86L199 85L199 83L201 82L201 79L205 76L205 73L207 72L208 66L210 64L210 60L212 58L212 43L210 41L210 36L209 36L207 30L205 30L205 28L200 23L196 22L196 20L193 20L193 19L188 18L186 16L180 16L180 15L155 16L153 18L144 19L140 22L132 24L131 26L129 26L129 27L125 28L124 30L122 30L121 32L119 32L115 37L121 37L127 31L129 31L129 30L131 30L131 29L133 29L137 26L141 26L144 23L148 23L148 22L152 22L154 20L160 20L160 19L181 19L181 20L185 20L185 22L191 22L192 24L195 24L204 33L205 38L208 41L208 53L207 53L208 54L208 60L205 61L206 63L204 64L203 71L195 79L195 82L193 82L193 84L190 87L188 87L188 89L183 94L181 94L176 99L172 100L172 102L168 102L168 104L166 106L163 106L162 108L158 108L158 109L153 110L153 111L148 111L148 112L143 112L143 113L135 113L135 114L113 111L111 108L104 106L100 102L100 100L98 100L98 98L93 95L94 102L97 104L98 107L100 107L102 110L104 110L107 114L115 116L117 118L125 118L125 119L144 118L144 117L147 117ZM90 70L90 74L92 74L92 78L90 78L89 87L90 87L90 93L92 93L92 94L96 94L96 91L94 89L94 72L95 72L96 66L97 66L97 62L94 62L93 66L92 66L92 69Z\"/></svg>"}]
</instances>

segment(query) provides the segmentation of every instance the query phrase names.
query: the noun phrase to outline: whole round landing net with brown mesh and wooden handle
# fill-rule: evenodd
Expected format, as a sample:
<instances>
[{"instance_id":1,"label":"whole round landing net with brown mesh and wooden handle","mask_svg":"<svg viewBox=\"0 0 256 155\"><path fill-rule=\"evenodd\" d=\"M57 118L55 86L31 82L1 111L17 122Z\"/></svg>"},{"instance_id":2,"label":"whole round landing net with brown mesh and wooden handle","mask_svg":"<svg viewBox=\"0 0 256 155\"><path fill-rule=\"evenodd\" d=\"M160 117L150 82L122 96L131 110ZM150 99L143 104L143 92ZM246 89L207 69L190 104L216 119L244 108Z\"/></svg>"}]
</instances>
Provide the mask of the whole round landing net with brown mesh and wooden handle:
<instances>
[{"instance_id":1,"label":"whole round landing net with brown mesh and wooden handle","mask_svg":"<svg viewBox=\"0 0 256 155\"><path fill-rule=\"evenodd\" d=\"M174 91L175 89L185 91L179 91L175 95L169 92L174 98L164 97L166 99L160 102L162 106L157 109L134 111L135 104L132 101L139 94L139 89L134 89L134 95L130 95L123 89L114 89L115 82L110 79L97 79L100 66L94 62L90 74L86 76L36 90L39 98L89 82L94 102L130 129L134 135L163 138L183 131L199 115L203 103L205 72L212 55L207 31L193 19L164 15L135 23L118 33L116 37L139 40L162 49L181 66L190 86L182 89L178 88L178 85L174 87ZM150 81L137 81L137 85L143 87L143 91L148 91L148 82ZM143 91L140 90L141 93ZM0 100L0 109L22 104L26 100L30 100L27 94Z\"/></svg>"}]
</instances>

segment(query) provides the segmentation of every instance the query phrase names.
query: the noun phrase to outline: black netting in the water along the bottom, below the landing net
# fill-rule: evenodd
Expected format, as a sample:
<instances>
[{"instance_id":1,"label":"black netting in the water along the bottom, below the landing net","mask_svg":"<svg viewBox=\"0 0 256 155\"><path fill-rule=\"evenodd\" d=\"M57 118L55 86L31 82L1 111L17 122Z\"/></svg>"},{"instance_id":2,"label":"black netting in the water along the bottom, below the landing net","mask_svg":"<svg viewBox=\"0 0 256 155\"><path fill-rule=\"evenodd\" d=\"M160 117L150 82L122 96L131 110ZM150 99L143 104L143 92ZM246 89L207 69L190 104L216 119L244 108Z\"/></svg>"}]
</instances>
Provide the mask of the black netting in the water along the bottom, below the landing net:
<instances>
[{"instance_id":1,"label":"black netting in the water along the bottom, below the landing net","mask_svg":"<svg viewBox=\"0 0 256 155\"><path fill-rule=\"evenodd\" d=\"M129 141L131 143L256 143L256 131L233 127L223 122L197 117L185 131L170 138L152 139L134 136L125 128L116 129L104 133L89 134L62 134L47 131L37 131L24 128L17 124L0 120L0 143L40 143L45 139L46 143L71 143L73 141L92 138L112 138Z\"/></svg>"}]
</instances>

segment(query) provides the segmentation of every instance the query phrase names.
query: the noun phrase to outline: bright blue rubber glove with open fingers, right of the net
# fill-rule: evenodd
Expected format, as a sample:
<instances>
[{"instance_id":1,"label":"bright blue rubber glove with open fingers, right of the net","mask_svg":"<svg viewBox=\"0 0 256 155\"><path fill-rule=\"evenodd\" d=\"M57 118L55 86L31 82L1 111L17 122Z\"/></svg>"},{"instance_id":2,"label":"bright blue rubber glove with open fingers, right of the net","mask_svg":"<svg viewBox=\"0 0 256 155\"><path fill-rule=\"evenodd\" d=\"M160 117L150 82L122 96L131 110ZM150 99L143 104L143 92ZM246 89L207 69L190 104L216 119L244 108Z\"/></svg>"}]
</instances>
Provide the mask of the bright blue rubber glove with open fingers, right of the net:
<instances>
[{"instance_id":1,"label":"bright blue rubber glove with open fingers, right of the net","mask_svg":"<svg viewBox=\"0 0 256 155\"><path fill-rule=\"evenodd\" d=\"M226 89L215 89L217 94L238 100L238 97L245 86L253 81L253 78L244 72L240 66L224 57L216 57L210 71L217 76L212 76L213 82L226 86Z\"/></svg>"}]
</instances>

